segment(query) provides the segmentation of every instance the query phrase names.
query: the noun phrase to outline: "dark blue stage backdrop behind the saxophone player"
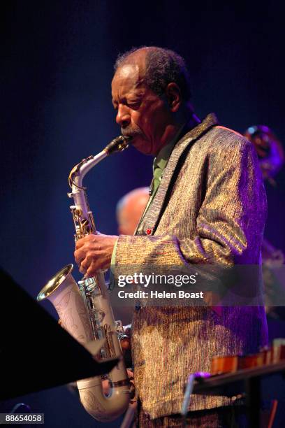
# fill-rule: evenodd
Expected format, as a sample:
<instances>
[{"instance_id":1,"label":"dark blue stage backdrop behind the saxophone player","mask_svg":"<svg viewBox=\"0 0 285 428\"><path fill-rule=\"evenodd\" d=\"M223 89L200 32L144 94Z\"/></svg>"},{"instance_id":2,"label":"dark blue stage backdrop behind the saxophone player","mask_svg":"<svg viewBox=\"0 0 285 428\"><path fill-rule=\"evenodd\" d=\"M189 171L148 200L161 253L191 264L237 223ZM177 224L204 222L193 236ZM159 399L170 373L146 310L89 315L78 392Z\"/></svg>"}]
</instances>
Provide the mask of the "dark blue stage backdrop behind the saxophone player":
<instances>
[{"instance_id":1,"label":"dark blue stage backdrop behind the saxophone player","mask_svg":"<svg viewBox=\"0 0 285 428\"><path fill-rule=\"evenodd\" d=\"M1 2L0 12L0 264L33 297L73 262L69 171L119 134L110 103L119 52L140 45L177 50L189 65L198 116L214 111L221 124L240 132L267 124L285 140L281 1L254 6L22 0ZM85 185L100 231L116 233L118 199L149 185L151 177L152 159L133 148L89 173ZM284 182L283 170L277 187L268 186L265 231L283 250ZM13 316L13 296L6 304ZM52 313L49 304L44 306ZM45 412L46 427L99 426L66 387L26 401Z\"/></svg>"}]
</instances>

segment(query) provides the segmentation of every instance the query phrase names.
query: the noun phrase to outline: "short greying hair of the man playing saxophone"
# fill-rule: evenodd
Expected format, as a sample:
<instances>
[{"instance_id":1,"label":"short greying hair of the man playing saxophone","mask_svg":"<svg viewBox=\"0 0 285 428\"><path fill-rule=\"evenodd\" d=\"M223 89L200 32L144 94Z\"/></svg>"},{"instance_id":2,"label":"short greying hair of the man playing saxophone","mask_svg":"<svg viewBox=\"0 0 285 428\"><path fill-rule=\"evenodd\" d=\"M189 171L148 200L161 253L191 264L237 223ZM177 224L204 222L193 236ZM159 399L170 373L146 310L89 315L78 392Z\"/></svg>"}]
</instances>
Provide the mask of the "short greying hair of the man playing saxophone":
<instances>
[{"instance_id":1,"label":"short greying hair of the man playing saxophone","mask_svg":"<svg viewBox=\"0 0 285 428\"><path fill-rule=\"evenodd\" d=\"M161 96L168 83L176 83L180 87L182 99L191 99L189 71L185 61L173 50L157 48L156 46L142 46L147 48L145 84L155 94ZM142 48L132 48L117 57L115 71L128 62L129 57Z\"/></svg>"}]
</instances>

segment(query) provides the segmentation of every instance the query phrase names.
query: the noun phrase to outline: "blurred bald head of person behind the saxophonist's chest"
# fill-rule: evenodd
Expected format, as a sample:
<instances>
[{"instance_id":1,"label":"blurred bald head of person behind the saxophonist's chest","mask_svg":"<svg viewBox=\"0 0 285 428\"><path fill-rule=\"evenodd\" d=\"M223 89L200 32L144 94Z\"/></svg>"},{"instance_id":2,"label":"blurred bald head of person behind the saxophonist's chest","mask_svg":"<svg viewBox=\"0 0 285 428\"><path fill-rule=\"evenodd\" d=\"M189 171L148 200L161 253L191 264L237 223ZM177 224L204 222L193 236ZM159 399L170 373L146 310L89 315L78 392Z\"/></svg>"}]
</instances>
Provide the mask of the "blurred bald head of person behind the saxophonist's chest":
<instances>
[{"instance_id":1,"label":"blurred bald head of person behind the saxophonist's chest","mask_svg":"<svg viewBox=\"0 0 285 428\"><path fill-rule=\"evenodd\" d=\"M120 235L133 235L149 200L148 187L127 193L117 203L116 214Z\"/></svg>"}]
</instances>

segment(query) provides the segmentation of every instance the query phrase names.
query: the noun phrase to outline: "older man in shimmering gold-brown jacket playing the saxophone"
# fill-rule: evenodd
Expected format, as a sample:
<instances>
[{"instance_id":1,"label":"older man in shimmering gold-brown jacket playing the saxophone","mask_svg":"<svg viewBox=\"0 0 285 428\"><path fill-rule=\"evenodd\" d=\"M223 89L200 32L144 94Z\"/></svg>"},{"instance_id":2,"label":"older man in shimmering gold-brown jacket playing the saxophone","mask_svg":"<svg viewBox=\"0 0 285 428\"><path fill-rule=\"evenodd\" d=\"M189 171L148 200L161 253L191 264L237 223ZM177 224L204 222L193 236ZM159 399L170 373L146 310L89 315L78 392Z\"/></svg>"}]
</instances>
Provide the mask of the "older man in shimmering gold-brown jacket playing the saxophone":
<instances>
[{"instance_id":1,"label":"older man in shimmering gold-brown jacket playing the saxophone","mask_svg":"<svg viewBox=\"0 0 285 428\"><path fill-rule=\"evenodd\" d=\"M152 194L135 236L88 235L76 243L80 271L114 266L224 265L260 262L266 201L251 143L204 120L190 102L182 57L149 47L117 59L112 104L132 144L154 159ZM267 343L261 306L136 306L132 347L137 423L180 427L189 373L210 371L214 355L256 352ZM226 397L193 395L191 427L231 426L243 406Z\"/></svg>"}]
</instances>

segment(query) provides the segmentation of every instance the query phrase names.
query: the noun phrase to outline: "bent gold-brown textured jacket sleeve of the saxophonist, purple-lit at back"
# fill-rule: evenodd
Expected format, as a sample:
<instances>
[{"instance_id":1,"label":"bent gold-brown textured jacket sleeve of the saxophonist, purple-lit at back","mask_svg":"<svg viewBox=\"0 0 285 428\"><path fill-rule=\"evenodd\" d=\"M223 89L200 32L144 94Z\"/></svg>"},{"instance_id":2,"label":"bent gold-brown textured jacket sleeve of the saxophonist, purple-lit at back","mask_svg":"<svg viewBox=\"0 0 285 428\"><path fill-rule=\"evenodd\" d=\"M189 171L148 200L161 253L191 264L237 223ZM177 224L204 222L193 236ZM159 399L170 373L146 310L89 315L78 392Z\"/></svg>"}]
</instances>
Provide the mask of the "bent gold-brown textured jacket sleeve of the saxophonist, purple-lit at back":
<instances>
[{"instance_id":1,"label":"bent gold-brown textured jacket sleeve of the saxophonist, purple-lit at back","mask_svg":"<svg viewBox=\"0 0 285 428\"><path fill-rule=\"evenodd\" d=\"M249 141L237 136L234 144L219 144L208 155L196 236L119 236L115 265L256 263L265 212L265 191L255 150Z\"/></svg>"}]
</instances>

